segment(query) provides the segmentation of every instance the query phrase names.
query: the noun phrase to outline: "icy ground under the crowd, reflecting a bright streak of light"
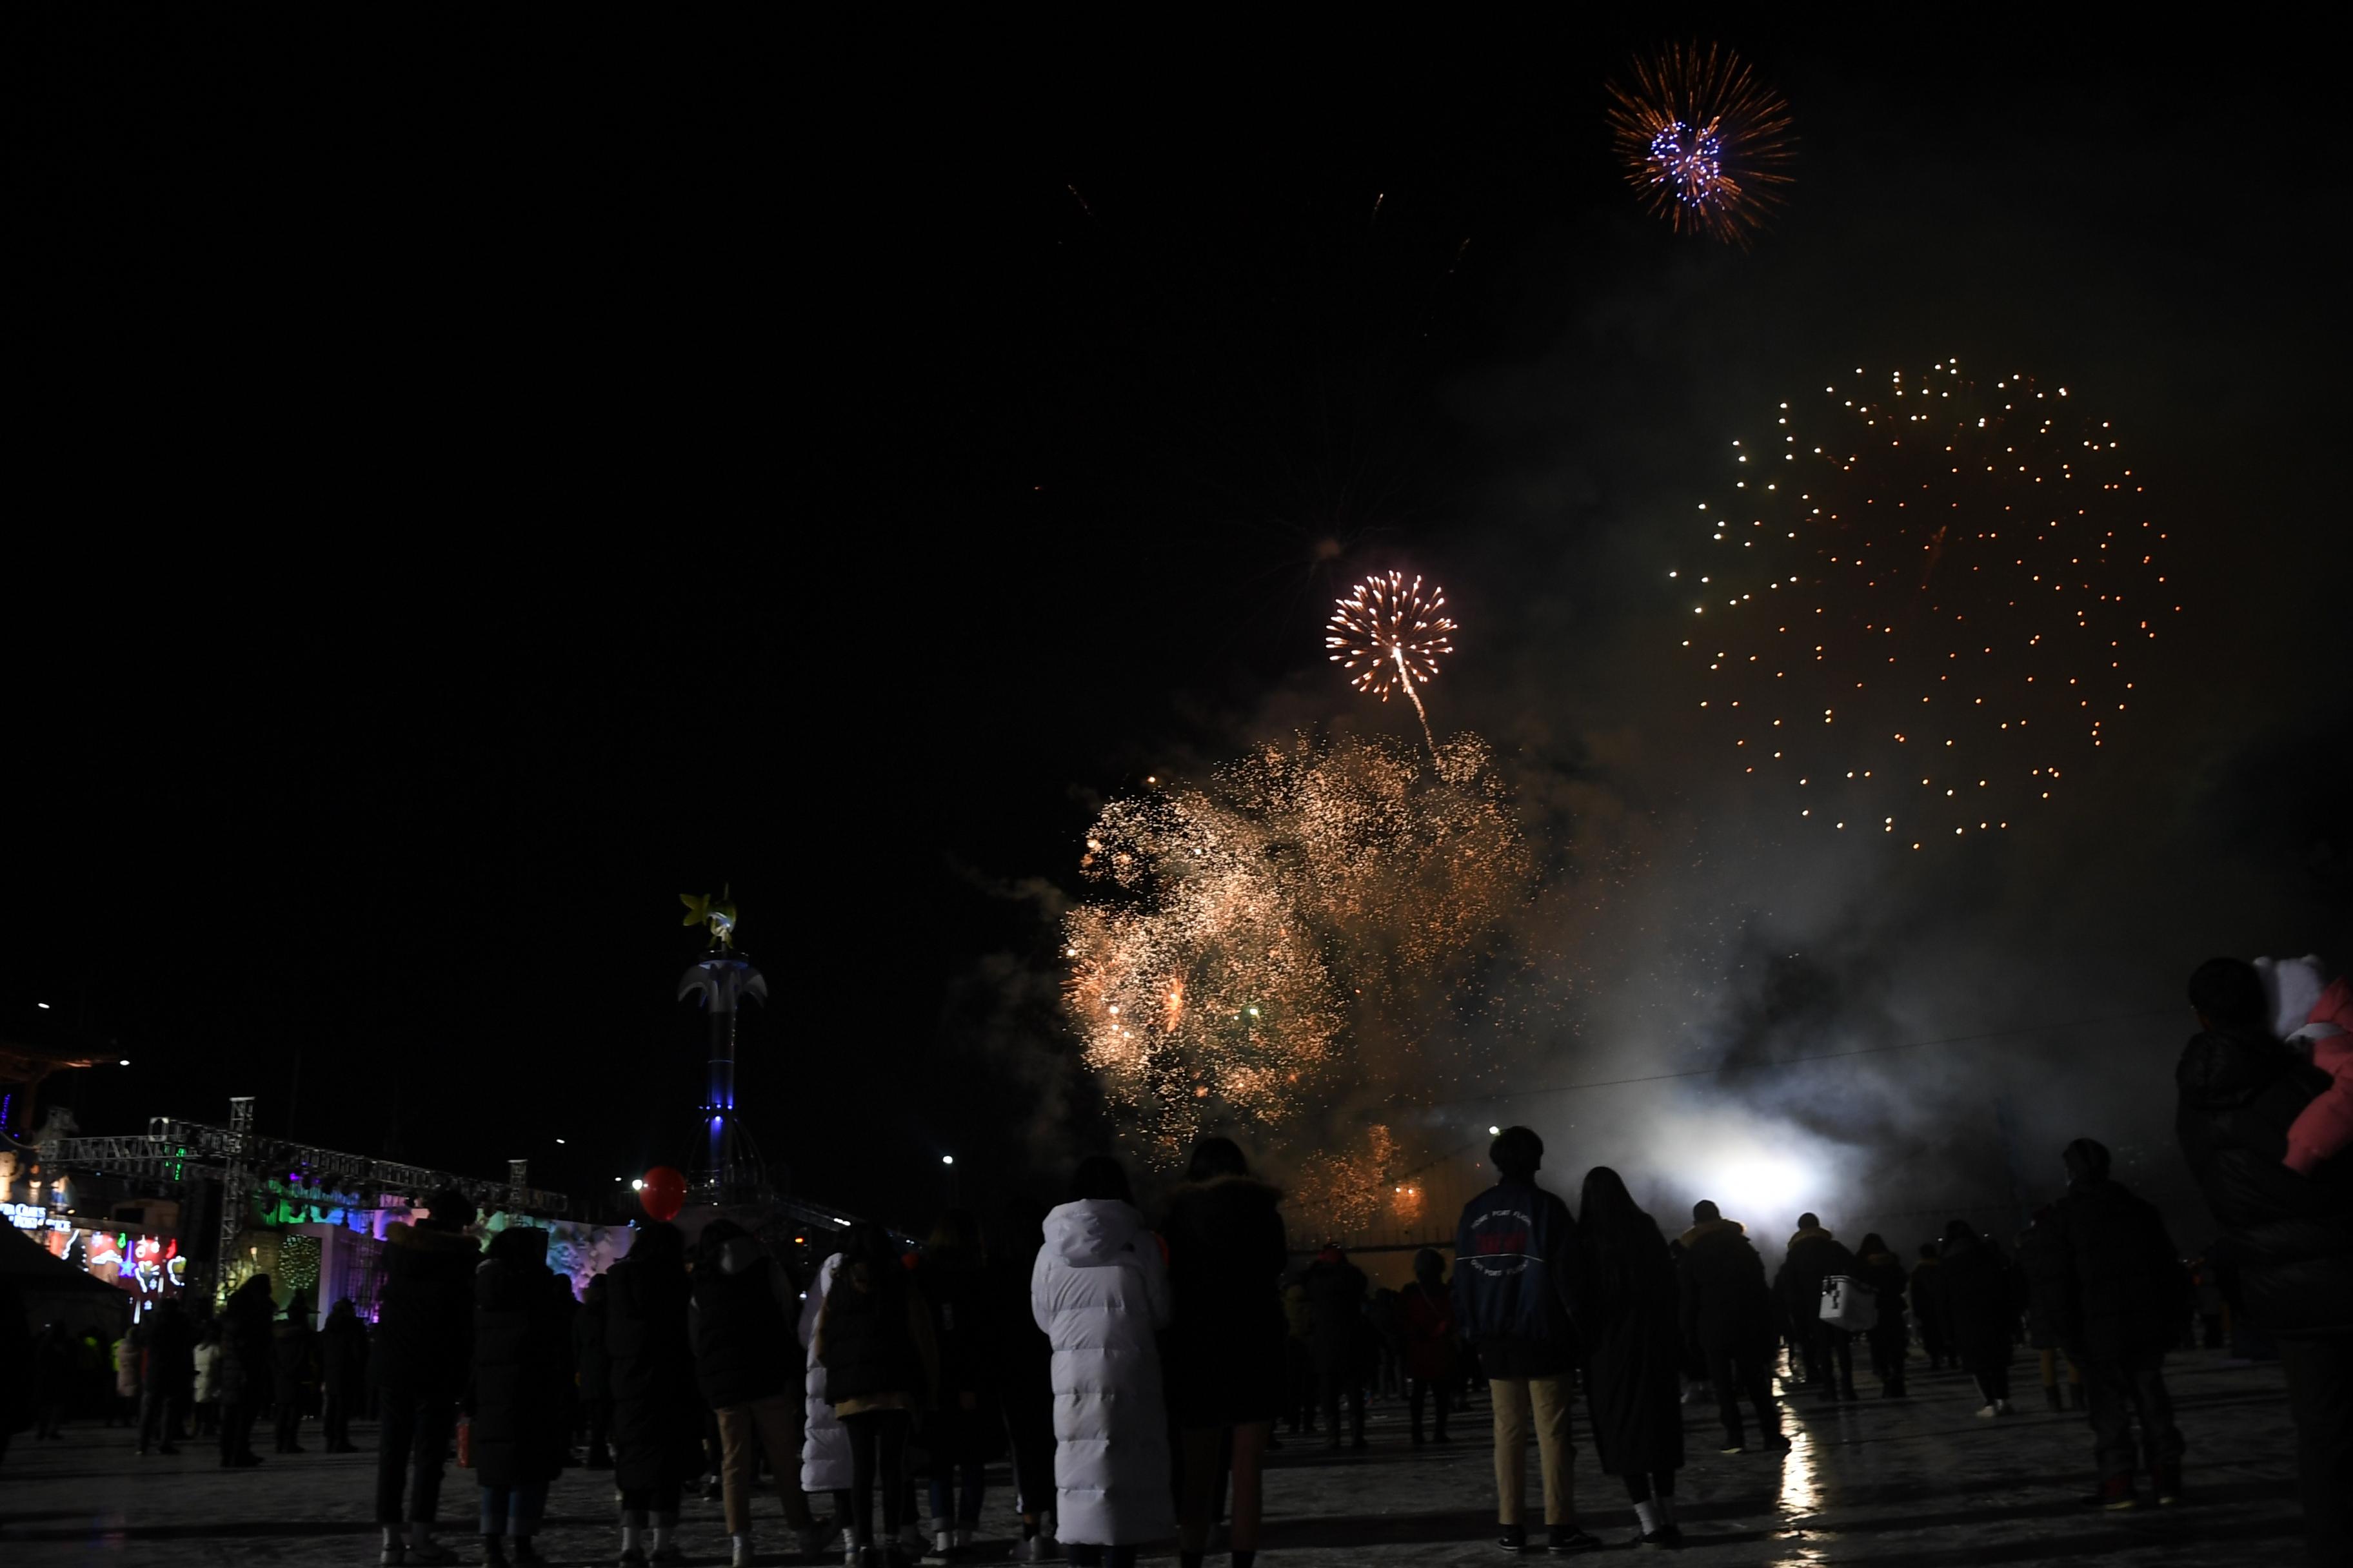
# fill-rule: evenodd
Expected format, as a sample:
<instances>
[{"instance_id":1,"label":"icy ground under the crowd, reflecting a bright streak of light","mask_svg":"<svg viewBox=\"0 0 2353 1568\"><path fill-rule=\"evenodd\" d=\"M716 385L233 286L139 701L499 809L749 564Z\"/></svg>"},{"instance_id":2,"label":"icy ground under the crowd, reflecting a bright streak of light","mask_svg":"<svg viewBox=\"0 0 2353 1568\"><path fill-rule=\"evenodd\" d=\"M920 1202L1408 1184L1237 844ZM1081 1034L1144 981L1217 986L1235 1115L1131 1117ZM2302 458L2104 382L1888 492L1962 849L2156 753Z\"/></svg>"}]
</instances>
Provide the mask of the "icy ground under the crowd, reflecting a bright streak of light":
<instances>
[{"instance_id":1,"label":"icy ground under the crowd, reflecting a bright streak of light","mask_svg":"<svg viewBox=\"0 0 2353 1568\"><path fill-rule=\"evenodd\" d=\"M2278 1366L2224 1366L2214 1352L2169 1363L2184 1436L2188 1500L2106 1514L2080 1502L2092 1488L2092 1434L2080 1413L2042 1410L2033 1363L2021 1359L2019 1415L1977 1420L1977 1401L1955 1375L1918 1373L1906 1401L1866 1399L1821 1406L1802 1392L1786 1455L1722 1458L1713 1403L1685 1406L1689 1462L1680 1476L1689 1547L1675 1561L1885 1568L1977 1563L2235 1563L2282 1568L2301 1561L2294 1502L2294 1432ZM1600 1474L1577 1410L1577 1495L1584 1523L1612 1542L1598 1561L1631 1561L1619 1549L1633 1514L1617 1481ZM268 1427L259 1432L268 1450ZM355 1441L374 1448L374 1427ZM1494 1549L1487 1410L1454 1420L1445 1448L1407 1446L1405 1410L1374 1403L1372 1448L1327 1455L1313 1439L1289 1439L1268 1476L1268 1530L1261 1561L1318 1568L1339 1563L1501 1563ZM374 1563L369 1521L374 1453L268 1458L259 1469L224 1472L212 1455L136 1458L132 1434L78 1422L66 1441L19 1436L0 1462L0 1563ZM1537 1495L1529 1455L1529 1495ZM461 1561L480 1561L473 1535L473 1476L449 1469L442 1537ZM981 1528L981 1561L1002 1559L1016 1535L1005 1472ZM760 1561L786 1552L774 1495L758 1512ZM687 1502L689 1561L725 1563L718 1502ZM614 1559L612 1486L605 1474L569 1469L548 1500L541 1547L551 1561ZM1668 1561L1642 1554L1645 1561ZM826 1561L840 1561L838 1554ZM1174 1552L1146 1561L1174 1563ZM1219 1561L1219 1559L1212 1559Z\"/></svg>"}]
</instances>

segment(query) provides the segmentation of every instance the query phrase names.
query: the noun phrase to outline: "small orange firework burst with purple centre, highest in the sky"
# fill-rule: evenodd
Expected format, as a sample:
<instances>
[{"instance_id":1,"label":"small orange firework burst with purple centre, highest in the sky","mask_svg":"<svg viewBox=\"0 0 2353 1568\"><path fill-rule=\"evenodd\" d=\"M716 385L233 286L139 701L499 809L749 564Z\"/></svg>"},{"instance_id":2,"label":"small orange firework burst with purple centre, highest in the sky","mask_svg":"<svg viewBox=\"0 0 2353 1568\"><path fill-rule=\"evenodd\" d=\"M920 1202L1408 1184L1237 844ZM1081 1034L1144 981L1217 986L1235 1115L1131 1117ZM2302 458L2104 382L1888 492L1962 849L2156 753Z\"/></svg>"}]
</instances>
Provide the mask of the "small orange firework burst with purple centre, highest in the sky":
<instances>
[{"instance_id":1,"label":"small orange firework burst with purple centre, highest in the sky","mask_svg":"<svg viewBox=\"0 0 2353 1568\"><path fill-rule=\"evenodd\" d=\"M1626 181L1678 230L1748 242L1781 205L1788 103L1720 45L1668 45L1609 82Z\"/></svg>"}]
</instances>

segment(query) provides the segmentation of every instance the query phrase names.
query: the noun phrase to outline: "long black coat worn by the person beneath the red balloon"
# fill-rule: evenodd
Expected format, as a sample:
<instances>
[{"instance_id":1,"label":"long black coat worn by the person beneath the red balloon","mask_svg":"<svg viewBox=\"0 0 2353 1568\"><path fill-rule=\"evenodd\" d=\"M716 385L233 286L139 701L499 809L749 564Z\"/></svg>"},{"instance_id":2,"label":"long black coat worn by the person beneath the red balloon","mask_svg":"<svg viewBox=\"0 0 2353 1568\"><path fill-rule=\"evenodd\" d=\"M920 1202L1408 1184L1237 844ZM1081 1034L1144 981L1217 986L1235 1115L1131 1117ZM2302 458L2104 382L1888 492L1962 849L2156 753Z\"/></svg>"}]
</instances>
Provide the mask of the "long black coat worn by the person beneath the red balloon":
<instances>
[{"instance_id":1,"label":"long black coat worn by the person beneath the red balloon","mask_svg":"<svg viewBox=\"0 0 2353 1568\"><path fill-rule=\"evenodd\" d=\"M631 1255L612 1265L605 1295L607 1434L614 1483L626 1488L682 1486L704 1474L687 1265L675 1246L645 1246L649 1234L640 1232Z\"/></svg>"}]
</instances>

